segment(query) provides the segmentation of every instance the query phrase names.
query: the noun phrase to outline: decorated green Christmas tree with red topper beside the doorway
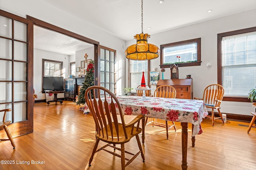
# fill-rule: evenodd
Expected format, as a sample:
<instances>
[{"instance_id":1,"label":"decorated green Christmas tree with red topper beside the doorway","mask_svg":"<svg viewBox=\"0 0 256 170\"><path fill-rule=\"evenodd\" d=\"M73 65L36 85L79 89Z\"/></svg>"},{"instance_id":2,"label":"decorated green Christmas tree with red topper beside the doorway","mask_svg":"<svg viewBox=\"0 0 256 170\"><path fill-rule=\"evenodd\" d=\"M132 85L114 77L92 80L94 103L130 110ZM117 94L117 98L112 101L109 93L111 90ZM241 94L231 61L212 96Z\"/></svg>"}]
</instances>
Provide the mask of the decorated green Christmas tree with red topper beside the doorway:
<instances>
[{"instance_id":1,"label":"decorated green Christmas tree with red topper beside the doorway","mask_svg":"<svg viewBox=\"0 0 256 170\"><path fill-rule=\"evenodd\" d=\"M80 94L78 96L78 102L76 102L76 105L85 104L84 93L88 87L94 86L94 61L93 60L90 61L85 72L86 74L84 76L84 82L82 83L83 86L82 88L80 88Z\"/></svg>"}]
</instances>

